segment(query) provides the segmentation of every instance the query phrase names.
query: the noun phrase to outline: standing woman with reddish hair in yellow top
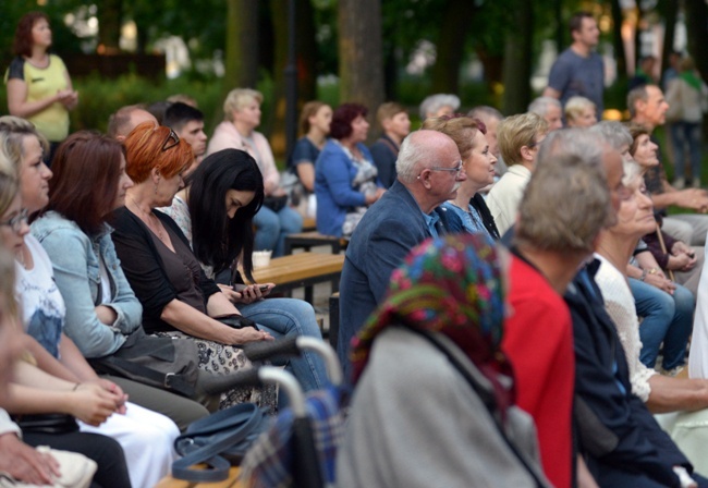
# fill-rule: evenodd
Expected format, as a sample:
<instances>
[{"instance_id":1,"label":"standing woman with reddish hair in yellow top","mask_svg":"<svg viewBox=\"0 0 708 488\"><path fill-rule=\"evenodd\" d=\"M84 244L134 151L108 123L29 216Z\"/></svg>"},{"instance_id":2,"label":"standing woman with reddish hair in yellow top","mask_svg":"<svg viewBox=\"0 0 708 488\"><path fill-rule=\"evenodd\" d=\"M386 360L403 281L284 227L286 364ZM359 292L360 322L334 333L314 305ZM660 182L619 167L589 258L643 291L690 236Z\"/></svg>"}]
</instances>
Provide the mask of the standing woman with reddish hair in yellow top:
<instances>
[{"instance_id":1,"label":"standing woman with reddish hair in yellow top","mask_svg":"<svg viewBox=\"0 0 708 488\"><path fill-rule=\"evenodd\" d=\"M69 135L69 110L78 103L69 71L61 58L48 52L51 46L49 19L41 12L25 14L15 30L15 59L5 73L8 109L35 124L50 143L45 160Z\"/></svg>"}]
</instances>

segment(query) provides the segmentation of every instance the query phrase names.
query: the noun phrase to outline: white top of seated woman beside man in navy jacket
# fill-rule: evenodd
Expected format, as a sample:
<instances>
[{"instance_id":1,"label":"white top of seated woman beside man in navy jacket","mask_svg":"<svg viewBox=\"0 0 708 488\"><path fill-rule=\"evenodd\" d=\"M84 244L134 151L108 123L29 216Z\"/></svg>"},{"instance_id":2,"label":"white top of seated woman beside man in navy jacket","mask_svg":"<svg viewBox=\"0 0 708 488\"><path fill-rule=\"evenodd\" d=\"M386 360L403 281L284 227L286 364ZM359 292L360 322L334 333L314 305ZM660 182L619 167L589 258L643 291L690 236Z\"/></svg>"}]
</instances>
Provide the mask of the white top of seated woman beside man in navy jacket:
<instances>
[{"instance_id":1,"label":"white top of seated woman beside man in navy jacket","mask_svg":"<svg viewBox=\"0 0 708 488\"><path fill-rule=\"evenodd\" d=\"M657 374L639 361L642 340L639 339L639 320L637 320L634 295L624 274L606 258L596 254L601 265L595 274L595 281L602 292L605 309L614 322L630 366L632 392L643 402L649 400L651 387L649 378Z\"/></svg>"}]
</instances>

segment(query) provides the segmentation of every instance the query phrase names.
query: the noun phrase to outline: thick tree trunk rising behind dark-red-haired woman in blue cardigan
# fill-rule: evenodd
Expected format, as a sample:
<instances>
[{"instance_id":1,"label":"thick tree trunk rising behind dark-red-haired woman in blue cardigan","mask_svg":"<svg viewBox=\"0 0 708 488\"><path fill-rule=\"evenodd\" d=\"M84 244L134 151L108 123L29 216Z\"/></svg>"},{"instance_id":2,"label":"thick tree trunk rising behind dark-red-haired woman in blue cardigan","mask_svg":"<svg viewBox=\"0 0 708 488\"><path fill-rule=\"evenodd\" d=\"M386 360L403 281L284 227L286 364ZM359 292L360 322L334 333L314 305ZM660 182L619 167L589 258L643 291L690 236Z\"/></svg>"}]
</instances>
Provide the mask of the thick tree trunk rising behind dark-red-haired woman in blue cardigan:
<instances>
[{"instance_id":1,"label":"thick tree trunk rising behind dark-red-haired woman in blue cardigan","mask_svg":"<svg viewBox=\"0 0 708 488\"><path fill-rule=\"evenodd\" d=\"M374 112L383 102L381 0L339 0L340 100Z\"/></svg>"}]
</instances>

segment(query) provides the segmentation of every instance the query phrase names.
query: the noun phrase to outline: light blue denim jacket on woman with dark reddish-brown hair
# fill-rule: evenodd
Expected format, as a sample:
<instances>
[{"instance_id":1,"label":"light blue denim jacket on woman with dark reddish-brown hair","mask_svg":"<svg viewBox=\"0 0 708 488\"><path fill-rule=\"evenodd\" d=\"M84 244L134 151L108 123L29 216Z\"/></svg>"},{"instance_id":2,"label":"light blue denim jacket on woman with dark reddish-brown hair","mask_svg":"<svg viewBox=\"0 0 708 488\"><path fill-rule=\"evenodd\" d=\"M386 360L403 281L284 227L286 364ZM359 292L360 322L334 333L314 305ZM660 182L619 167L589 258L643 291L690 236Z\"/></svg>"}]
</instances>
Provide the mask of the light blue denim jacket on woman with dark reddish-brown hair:
<instances>
[{"instance_id":1,"label":"light blue denim jacket on woman with dark reddish-brown hair","mask_svg":"<svg viewBox=\"0 0 708 488\"><path fill-rule=\"evenodd\" d=\"M141 327L143 316L143 307L115 255L111 232L111 227L105 224L105 230L91 239L75 222L56 211L32 223L32 233L47 251L57 286L66 303L64 332L87 358L118 351L125 335ZM111 301L102 305L113 308L118 315L110 326L102 324L95 312L101 294L99 255L103 257L111 285Z\"/></svg>"}]
</instances>

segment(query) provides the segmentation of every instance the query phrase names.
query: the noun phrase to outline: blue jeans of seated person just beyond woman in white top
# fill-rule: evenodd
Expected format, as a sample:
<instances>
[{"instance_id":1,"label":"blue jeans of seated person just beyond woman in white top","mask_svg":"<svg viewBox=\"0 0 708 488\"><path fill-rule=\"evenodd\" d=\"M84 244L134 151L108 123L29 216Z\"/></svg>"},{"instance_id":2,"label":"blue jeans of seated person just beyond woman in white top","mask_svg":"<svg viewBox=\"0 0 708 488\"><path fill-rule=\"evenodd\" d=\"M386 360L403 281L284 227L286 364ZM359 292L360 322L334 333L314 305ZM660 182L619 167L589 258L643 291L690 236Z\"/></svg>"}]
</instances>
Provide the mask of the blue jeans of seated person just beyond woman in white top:
<instances>
[{"instance_id":1,"label":"blue jeans of seated person just beyond woman in white top","mask_svg":"<svg viewBox=\"0 0 708 488\"><path fill-rule=\"evenodd\" d=\"M683 366L686 358L686 344L693 330L693 293L676 284L673 295L648 283L630 278L637 315L644 317L639 326L642 354L639 361L654 368L663 342L663 364L666 370Z\"/></svg>"}]
</instances>

